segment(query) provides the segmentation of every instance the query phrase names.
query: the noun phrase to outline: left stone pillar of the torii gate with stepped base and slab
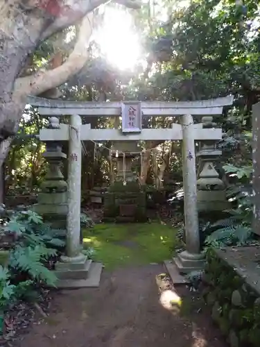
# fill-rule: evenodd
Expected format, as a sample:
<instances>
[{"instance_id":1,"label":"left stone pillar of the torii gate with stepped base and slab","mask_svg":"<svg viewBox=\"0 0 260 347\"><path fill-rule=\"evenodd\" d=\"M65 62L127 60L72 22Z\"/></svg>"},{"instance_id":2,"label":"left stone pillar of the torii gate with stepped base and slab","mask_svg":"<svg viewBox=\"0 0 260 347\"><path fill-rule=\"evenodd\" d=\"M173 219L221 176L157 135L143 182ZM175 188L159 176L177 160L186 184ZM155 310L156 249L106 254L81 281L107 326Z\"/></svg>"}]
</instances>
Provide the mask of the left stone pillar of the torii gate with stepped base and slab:
<instances>
[{"instance_id":1,"label":"left stone pillar of the torii gate with stepped base and slab","mask_svg":"<svg viewBox=\"0 0 260 347\"><path fill-rule=\"evenodd\" d=\"M55 265L59 288L96 287L102 264L92 264L81 253L80 203L81 203L81 141L82 122L78 115L71 115L69 126L68 214L66 253ZM90 275L94 276L90 276Z\"/></svg>"}]
</instances>

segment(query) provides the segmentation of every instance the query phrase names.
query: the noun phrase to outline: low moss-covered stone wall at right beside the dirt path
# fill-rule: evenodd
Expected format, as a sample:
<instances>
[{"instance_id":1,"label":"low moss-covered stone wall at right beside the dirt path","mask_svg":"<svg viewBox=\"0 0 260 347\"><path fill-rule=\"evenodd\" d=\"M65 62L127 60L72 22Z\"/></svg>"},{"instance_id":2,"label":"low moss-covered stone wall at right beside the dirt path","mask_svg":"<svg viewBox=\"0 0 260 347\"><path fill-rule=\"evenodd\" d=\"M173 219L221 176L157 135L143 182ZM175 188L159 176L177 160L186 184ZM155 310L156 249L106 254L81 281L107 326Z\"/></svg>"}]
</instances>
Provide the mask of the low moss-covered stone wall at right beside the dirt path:
<instances>
[{"instance_id":1,"label":"low moss-covered stone wall at right beside the dirt path","mask_svg":"<svg viewBox=\"0 0 260 347\"><path fill-rule=\"evenodd\" d=\"M212 319L230 346L258 347L260 291L253 282L252 272L248 276L247 266L243 269L235 263L225 250L207 254L203 296L211 307Z\"/></svg>"}]
</instances>

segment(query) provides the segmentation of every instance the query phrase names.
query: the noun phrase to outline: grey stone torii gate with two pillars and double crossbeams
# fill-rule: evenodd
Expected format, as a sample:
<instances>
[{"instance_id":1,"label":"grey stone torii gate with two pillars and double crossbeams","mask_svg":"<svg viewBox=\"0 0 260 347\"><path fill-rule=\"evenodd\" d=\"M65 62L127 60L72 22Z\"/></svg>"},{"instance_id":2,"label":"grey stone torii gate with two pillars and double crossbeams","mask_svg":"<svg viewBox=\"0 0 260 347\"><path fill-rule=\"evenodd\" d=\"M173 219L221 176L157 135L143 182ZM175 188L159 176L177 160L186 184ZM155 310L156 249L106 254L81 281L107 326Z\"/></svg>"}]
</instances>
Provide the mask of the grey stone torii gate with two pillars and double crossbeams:
<instances>
[{"instance_id":1,"label":"grey stone torii gate with two pillars and double crossbeams","mask_svg":"<svg viewBox=\"0 0 260 347\"><path fill-rule=\"evenodd\" d=\"M78 102L60 101L29 97L28 103L38 108L40 115L51 116L51 127L40 130L43 142L69 141L68 167L68 213L67 213L67 251L62 257L63 282L60 287L83 287L84 278L72 280L71 272L85 269L85 257L80 253L80 194L81 194L81 142L182 140L182 171L184 187L184 222L186 251L180 253L175 264L180 272L189 272L203 266L200 253L198 228L197 178L195 141L216 142L222 139L222 129L203 128L203 124L193 124L193 116L202 116L205 122L213 116L221 115L223 106L232 105L233 97L207 101L162 102L128 101L120 102ZM135 110L135 112L133 112ZM60 124L58 118L70 115L70 124ZM92 129L90 124L82 124L80 116L119 117L122 116L122 130ZM141 128L142 117L181 117L181 124L171 128ZM131 118L132 117L132 118Z\"/></svg>"}]
</instances>

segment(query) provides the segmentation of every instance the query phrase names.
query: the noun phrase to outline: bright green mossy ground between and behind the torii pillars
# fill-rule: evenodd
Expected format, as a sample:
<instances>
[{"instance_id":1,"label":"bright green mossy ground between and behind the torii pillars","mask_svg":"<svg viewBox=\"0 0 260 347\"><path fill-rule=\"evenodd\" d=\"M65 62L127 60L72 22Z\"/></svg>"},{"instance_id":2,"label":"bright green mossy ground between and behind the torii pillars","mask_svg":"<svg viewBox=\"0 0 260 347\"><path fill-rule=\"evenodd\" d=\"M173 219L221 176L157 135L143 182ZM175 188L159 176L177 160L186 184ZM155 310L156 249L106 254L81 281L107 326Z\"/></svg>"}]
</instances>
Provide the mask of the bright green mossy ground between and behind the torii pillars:
<instances>
[{"instance_id":1,"label":"bright green mossy ground between and behind the torii pillars","mask_svg":"<svg viewBox=\"0 0 260 347\"><path fill-rule=\"evenodd\" d=\"M97 224L83 230L83 245L96 251L94 260L106 269L160 263L170 259L177 246L176 230L159 222Z\"/></svg>"}]
</instances>

